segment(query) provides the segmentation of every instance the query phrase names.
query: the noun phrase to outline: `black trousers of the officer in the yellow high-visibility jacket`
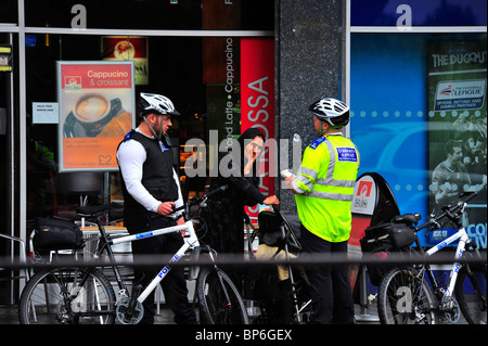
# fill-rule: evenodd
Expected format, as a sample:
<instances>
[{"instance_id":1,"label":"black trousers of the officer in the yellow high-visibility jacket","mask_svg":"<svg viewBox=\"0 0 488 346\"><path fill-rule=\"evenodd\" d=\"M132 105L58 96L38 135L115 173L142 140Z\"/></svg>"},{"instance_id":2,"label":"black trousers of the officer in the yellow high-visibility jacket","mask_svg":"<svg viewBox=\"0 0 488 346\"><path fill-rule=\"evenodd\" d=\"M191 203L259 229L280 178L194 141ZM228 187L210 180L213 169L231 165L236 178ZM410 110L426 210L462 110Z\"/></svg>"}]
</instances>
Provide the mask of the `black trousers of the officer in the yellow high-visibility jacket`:
<instances>
[{"instance_id":1,"label":"black trousers of the officer in the yellow high-visibility jacket","mask_svg":"<svg viewBox=\"0 0 488 346\"><path fill-rule=\"evenodd\" d=\"M347 242L331 243L300 227L301 252L307 256L334 256L346 254ZM310 282L312 316L310 323L350 324L355 311L352 293L346 265L314 265L306 267Z\"/></svg>"}]
</instances>

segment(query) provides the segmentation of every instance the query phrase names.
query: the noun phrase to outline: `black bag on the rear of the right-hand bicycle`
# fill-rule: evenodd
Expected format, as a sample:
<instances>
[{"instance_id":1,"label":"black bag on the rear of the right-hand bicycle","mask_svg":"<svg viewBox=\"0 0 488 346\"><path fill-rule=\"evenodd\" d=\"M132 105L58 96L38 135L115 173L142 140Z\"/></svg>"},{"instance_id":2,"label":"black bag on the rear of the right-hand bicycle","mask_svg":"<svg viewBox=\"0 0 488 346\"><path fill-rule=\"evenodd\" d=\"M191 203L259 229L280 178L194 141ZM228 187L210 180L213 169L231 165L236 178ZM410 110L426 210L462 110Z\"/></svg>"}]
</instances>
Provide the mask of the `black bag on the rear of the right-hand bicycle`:
<instances>
[{"instance_id":1,"label":"black bag on the rear of the right-hand bicycle","mask_svg":"<svg viewBox=\"0 0 488 346\"><path fill-rule=\"evenodd\" d=\"M372 258L387 259L393 252L406 251L414 243L415 232L403 223L382 223L364 230L360 240L361 251L370 253ZM371 283L378 286L383 275L394 267L388 264L367 265Z\"/></svg>"}]
</instances>

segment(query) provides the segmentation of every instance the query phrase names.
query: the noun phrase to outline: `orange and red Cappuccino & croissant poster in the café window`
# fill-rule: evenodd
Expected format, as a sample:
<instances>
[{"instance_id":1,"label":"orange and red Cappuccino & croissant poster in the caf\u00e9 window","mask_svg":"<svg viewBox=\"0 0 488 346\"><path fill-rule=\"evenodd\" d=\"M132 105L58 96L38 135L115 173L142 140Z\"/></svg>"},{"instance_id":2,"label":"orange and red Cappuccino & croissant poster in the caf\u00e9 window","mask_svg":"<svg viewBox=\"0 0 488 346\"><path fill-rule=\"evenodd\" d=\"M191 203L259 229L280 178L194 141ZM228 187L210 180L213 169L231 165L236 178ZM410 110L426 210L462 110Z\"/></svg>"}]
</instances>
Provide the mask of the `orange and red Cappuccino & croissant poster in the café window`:
<instances>
[{"instance_id":1,"label":"orange and red Cappuccino & croissant poster in the caf\u00e9 window","mask_svg":"<svg viewBox=\"0 0 488 346\"><path fill-rule=\"evenodd\" d=\"M133 62L57 62L61 171L118 169L134 125Z\"/></svg>"}]
</instances>

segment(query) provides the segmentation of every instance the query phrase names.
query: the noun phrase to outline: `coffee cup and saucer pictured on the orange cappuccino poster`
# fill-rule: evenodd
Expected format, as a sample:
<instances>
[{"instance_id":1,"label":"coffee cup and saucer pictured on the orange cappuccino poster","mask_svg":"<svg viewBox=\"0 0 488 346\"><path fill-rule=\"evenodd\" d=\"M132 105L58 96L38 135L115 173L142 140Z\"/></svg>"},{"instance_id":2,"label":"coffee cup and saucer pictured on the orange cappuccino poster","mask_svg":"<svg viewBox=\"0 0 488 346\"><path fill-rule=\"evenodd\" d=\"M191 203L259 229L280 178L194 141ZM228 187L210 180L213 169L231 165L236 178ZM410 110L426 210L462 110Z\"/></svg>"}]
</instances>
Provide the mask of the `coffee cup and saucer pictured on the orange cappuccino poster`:
<instances>
[{"instance_id":1,"label":"coffee cup and saucer pictured on the orange cappuccino poster","mask_svg":"<svg viewBox=\"0 0 488 346\"><path fill-rule=\"evenodd\" d=\"M65 138L97 137L123 111L118 98L107 100L99 93L81 95L63 126Z\"/></svg>"}]
</instances>

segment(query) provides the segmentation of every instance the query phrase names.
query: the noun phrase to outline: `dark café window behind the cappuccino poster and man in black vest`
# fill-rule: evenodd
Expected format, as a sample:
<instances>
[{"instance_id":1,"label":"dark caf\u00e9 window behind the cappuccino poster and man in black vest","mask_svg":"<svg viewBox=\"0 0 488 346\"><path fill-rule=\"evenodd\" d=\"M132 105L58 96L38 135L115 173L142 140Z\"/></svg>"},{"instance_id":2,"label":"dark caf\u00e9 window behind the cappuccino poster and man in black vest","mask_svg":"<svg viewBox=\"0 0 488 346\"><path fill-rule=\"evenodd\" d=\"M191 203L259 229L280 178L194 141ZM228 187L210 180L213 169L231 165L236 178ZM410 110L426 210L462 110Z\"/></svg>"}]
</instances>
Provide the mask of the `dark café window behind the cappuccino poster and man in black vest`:
<instances>
[{"instance_id":1,"label":"dark caf\u00e9 window behind the cappuccino poster and man in black vest","mask_svg":"<svg viewBox=\"0 0 488 346\"><path fill-rule=\"evenodd\" d=\"M42 7L38 1L26 0L26 25L69 27L72 7L76 1L50 1ZM137 29L273 29L274 1L110 1L104 2L103 13L93 8L97 1L85 1L88 28ZM197 4L197 5L195 5ZM230 5L232 4L232 5ZM227 10L224 16L220 10ZM49 9L49 10L48 10ZM130 13L132 16L127 17ZM103 18L103 20L102 20ZM252 20L257 21L255 24ZM254 24L253 24L253 23ZM208 132L218 131L220 142L229 136L239 137L240 112L240 46L239 37L111 37L99 35L28 34L26 44L26 92L29 113L28 141L36 142L52 153L60 163L60 124L47 124L31 117L35 104L57 103L59 76L56 62L103 62L116 60L116 41L126 43L121 54L132 54L136 69L134 100L140 92L167 95L175 103L181 117L174 119L169 131L174 144L175 168L180 176L183 197L202 194L208 184L207 171L197 177L187 176L190 165L208 169ZM27 41L27 40L26 40ZM112 50L112 51L111 51ZM145 61L140 51L144 53ZM131 56L132 57L132 56ZM141 59L141 61L138 61ZM231 72L231 76L229 73ZM139 78L140 77L140 78ZM232 106L229 106L232 102ZM64 110L63 110L64 112ZM136 110L132 110L137 113ZM136 126L137 114L132 114ZM229 133L229 117L233 119ZM200 140L197 145L188 143ZM121 140L121 138L120 138ZM197 151L198 145L205 150ZM114 153L115 156L115 153ZM116 169L103 171L69 170L56 167L51 170L42 188L43 202L29 203L28 218L39 215L61 215L76 218L79 204L120 202L120 181ZM61 170L60 170L61 169ZM64 170L63 170L64 169ZM28 178L34 174L28 174ZM35 194L34 184L28 194Z\"/></svg>"}]
</instances>

